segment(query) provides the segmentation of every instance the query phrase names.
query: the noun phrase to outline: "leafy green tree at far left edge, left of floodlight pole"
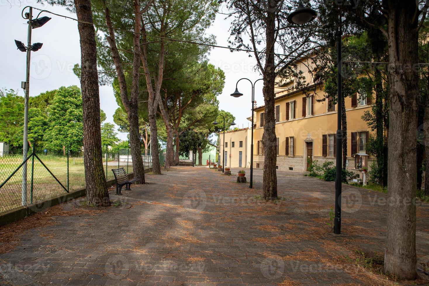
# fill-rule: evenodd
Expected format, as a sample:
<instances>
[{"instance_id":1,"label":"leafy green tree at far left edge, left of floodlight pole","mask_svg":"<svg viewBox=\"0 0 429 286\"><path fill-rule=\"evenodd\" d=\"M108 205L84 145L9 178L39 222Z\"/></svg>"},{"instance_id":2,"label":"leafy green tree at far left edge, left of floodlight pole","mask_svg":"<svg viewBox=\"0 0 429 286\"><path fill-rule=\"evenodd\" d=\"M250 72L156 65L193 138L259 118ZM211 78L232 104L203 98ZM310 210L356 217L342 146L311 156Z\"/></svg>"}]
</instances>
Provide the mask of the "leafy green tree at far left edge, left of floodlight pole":
<instances>
[{"instance_id":1,"label":"leafy green tree at far left edge, left of floodlight pole","mask_svg":"<svg viewBox=\"0 0 429 286\"><path fill-rule=\"evenodd\" d=\"M13 89L0 89L0 141L22 148L24 98Z\"/></svg>"}]
</instances>

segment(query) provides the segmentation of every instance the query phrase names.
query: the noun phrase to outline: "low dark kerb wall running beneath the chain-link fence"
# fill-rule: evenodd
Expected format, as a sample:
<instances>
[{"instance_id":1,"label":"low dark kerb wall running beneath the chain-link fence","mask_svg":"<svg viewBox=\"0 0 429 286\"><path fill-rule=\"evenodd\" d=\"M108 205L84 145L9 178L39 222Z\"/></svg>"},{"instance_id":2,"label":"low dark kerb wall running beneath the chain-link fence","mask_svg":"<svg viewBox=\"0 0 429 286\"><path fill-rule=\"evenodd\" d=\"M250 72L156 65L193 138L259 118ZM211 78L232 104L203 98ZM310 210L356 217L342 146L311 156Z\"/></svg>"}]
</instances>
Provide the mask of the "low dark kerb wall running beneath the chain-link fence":
<instances>
[{"instance_id":1,"label":"low dark kerb wall running beneath the chain-link fence","mask_svg":"<svg viewBox=\"0 0 429 286\"><path fill-rule=\"evenodd\" d=\"M152 171L152 168L145 169L145 173L149 173L151 171ZM133 176L134 176L133 173L128 174L128 178L132 178ZM106 185L107 187L115 185L115 179L107 180ZM50 199L44 200L37 204L33 204L30 206L21 206L19 208L12 209L8 212L4 212L3 214L0 215L0 226L4 226L14 221L21 220L24 217L34 215L35 213L41 212L44 209L48 209L51 206L56 206L61 203L66 203L70 200L84 197L85 194L86 194L86 188L81 188L57 197L51 197Z\"/></svg>"}]
</instances>

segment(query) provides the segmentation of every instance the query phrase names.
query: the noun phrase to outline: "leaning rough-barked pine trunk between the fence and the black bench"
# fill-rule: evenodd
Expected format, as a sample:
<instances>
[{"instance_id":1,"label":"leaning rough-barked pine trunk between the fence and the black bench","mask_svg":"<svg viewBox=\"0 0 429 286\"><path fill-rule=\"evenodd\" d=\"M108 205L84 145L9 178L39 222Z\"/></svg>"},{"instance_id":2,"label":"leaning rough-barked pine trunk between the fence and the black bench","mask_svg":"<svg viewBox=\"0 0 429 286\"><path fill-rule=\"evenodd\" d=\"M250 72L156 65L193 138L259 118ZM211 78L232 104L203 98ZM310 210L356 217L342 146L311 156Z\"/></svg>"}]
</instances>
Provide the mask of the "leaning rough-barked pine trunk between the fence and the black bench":
<instances>
[{"instance_id":1,"label":"leaning rough-barked pine trunk between the fence and the black bench","mask_svg":"<svg viewBox=\"0 0 429 286\"><path fill-rule=\"evenodd\" d=\"M93 23L90 0L75 0L79 21ZM110 206L103 169L98 89L97 48L92 24L79 22L81 45L81 89L83 111L83 146L86 201L96 206Z\"/></svg>"}]
</instances>

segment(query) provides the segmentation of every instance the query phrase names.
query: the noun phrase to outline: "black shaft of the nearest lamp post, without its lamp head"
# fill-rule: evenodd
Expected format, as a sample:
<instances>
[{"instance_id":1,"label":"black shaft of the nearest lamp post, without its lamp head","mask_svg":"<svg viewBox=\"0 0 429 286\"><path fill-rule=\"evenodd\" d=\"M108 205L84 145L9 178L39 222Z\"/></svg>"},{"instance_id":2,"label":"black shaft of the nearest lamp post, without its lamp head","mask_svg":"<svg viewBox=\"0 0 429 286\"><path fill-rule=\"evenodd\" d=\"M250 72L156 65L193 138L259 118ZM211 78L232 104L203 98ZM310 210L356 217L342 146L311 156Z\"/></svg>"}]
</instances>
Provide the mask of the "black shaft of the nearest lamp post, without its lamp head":
<instances>
[{"instance_id":1,"label":"black shaft of the nearest lamp post, without its lamp head","mask_svg":"<svg viewBox=\"0 0 429 286\"><path fill-rule=\"evenodd\" d=\"M336 150L336 174L335 174L335 217L334 217L334 233L341 234L341 182L342 182L342 138L343 131L341 130L341 9L340 9L340 24L338 27L337 39L337 150Z\"/></svg>"}]
</instances>

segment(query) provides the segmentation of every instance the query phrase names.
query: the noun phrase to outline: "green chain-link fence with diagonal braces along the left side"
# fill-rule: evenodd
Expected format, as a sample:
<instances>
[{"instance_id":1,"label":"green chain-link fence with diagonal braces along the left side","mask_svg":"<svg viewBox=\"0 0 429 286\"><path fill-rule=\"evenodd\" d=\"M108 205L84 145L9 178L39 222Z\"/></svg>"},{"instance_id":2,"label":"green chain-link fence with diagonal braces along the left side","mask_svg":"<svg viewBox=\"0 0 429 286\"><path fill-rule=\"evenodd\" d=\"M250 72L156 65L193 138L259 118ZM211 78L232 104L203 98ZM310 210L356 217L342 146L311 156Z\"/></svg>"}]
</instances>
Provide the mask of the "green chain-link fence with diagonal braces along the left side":
<instances>
[{"instance_id":1,"label":"green chain-link fence with diagonal braces along the left side","mask_svg":"<svg viewBox=\"0 0 429 286\"><path fill-rule=\"evenodd\" d=\"M112 151L113 148L103 146L106 180L114 179L112 169L122 167L126 173L132 173L131 150ZM142 150L142 159L145 169L152 167L149 150ZM85 187L82 152L72 152L67 147L59 152L32 148L24 160L22 150L0 154L0 213ZM160 150L161 166L163 162L164 152Z\"/></svg>"}]
</instances>

